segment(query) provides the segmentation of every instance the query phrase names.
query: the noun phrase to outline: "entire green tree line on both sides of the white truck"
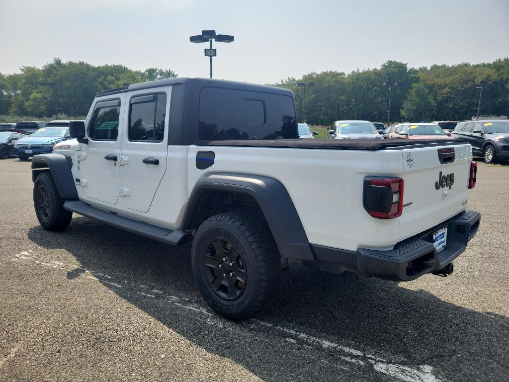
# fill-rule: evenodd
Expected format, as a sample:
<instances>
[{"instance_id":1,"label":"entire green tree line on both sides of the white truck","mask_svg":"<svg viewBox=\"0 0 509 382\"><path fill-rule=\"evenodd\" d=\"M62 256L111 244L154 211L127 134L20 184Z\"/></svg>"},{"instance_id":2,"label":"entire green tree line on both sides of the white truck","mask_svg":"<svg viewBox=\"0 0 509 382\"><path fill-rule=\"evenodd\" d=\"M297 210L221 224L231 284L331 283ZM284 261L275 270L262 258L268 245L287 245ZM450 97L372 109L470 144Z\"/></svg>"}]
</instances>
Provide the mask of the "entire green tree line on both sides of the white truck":
<instances>
[{"instance_id":1,"label":"entire green tree line on both sides of the white truck","mask_svg":"<svg viewBox=\"0 0 509 382\"><path fill-rule=\"evenodd\" d=\"M42 68L24 66L19 73L0 73L0 115L51 117L55 115L55 91L60 114L84 116L100 91L176 76L169 69L136 71L122 65L93 66L56 58ZM480 114L507 115L509 58L417 69L387 61L376 69L348 74L310 72L270 85L294 92L299 121L329 125L341 119L387 121L389 95L390 121L468 119L477 114L479 81L486 81ZM314 86L299 87L298 83Z\"/></svg>"}]
</instances>

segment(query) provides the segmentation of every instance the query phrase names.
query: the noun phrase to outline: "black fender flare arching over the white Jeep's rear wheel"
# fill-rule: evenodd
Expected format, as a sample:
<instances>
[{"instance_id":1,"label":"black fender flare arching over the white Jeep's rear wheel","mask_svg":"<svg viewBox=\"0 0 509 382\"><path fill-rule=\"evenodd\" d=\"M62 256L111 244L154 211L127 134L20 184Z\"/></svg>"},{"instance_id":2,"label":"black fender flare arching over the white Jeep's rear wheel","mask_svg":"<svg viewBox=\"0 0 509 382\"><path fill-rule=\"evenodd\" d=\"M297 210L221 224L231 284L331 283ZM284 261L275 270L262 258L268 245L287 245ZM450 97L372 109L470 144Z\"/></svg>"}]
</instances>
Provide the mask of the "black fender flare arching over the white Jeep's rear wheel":
<instances>
[{"instance_id":1,"label":"black fender flare arching over the white Jeep's rear wheel","mask_svg":"<svg viewBox=\"0 0 509 382\"><path fill-rule=\"evenodd\" d=\"M315 260L306 233L287 189L274 178L250 174L207 174L196 182L189 197L183 230L189 227L194 209L207 190L247 194L260 205L282 257Z\"/></svg>"}]
</instances>

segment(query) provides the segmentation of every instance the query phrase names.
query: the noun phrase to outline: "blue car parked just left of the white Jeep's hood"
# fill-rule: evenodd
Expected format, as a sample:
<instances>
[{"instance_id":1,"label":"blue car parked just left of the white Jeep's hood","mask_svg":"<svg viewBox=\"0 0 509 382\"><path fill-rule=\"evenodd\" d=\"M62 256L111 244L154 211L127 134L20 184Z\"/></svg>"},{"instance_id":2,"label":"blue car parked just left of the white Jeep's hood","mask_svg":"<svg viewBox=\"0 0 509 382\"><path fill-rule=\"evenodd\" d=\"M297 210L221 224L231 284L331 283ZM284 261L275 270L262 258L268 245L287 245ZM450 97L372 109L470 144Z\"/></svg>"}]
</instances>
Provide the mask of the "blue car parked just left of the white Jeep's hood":
<instances>
[{"instance_id":1,"label":"blue car parked just left of the white Jeep's hood","mask_svg":"<svg viewBox=\"0 0 509 382\"><path fill-rule=\"evenodd\" d=\"M68 127L43 127L30 137L22 138L14 145L14 155L20 160L27 160L37 154L47 154L56 143L71 138Z\"/></svg>"}]
</instances>

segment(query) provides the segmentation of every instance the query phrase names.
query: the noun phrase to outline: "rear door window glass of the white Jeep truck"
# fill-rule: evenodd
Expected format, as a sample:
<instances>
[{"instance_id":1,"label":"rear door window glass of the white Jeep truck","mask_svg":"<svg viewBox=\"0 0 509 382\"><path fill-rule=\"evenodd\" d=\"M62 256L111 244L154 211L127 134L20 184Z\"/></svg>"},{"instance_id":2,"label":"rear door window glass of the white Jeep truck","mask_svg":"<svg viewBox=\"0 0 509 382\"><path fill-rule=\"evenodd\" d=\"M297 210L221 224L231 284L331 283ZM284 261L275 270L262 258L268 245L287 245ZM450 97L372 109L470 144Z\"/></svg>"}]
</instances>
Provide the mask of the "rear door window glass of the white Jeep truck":
<instances>
[{"instance_id":1,"label":"rear door window glass of the white Jeep truck","mask_svg":"<svg viewBox=\"0 0 509 382\"><path fill-rule=\"evenodd\" d=\"M166 117L166 94L151 94L131 99L129 141L162 142Z\"/></svg>"}]
</instances>

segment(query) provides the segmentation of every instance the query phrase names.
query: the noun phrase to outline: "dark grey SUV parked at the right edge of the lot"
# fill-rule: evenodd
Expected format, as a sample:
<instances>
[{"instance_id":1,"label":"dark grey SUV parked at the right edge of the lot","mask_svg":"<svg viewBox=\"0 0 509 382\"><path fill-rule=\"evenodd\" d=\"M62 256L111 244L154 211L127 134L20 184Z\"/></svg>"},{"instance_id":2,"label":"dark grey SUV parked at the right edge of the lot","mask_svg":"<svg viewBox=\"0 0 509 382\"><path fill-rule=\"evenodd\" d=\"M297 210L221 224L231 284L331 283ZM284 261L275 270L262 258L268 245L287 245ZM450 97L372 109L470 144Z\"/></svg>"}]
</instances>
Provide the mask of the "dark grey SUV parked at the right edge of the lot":
<instances>
[{"instance_id":1,"label":"dark grey SUV parked at the right edge of the lot","mask_svg":"<svg viewBox=\"0 0 509 382\"><path fill-rule=\"evenodd\" d=\"M472 154L483 156L486 163L509 159L509 120L463 121L456 125L452 137L468 141Z\"/></svg>"}]
</instances>

